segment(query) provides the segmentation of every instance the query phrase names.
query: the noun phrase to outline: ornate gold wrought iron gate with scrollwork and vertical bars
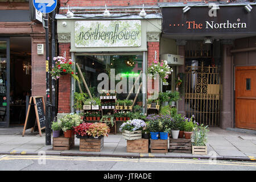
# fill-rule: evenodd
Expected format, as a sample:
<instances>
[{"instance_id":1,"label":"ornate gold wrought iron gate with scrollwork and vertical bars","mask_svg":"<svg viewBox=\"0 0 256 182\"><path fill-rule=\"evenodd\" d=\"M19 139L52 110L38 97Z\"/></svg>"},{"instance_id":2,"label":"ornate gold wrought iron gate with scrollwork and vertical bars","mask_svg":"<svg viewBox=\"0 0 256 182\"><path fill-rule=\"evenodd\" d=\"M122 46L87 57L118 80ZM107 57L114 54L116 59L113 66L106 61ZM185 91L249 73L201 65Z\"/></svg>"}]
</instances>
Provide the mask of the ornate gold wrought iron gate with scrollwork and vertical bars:
<instances>
[{"instance_id":1,"label":"ornate gold wrought iron gate with scrollwork and vertical bars","mask_svg":"<svg viewBox=\"0 0 256 182\"><path fill-rule=\"evenodd\" d=\"M220 74L218 67L188 66L185 111L187 117L208 126L218 126L220 118Z\"/></svg>"}]
</instances>

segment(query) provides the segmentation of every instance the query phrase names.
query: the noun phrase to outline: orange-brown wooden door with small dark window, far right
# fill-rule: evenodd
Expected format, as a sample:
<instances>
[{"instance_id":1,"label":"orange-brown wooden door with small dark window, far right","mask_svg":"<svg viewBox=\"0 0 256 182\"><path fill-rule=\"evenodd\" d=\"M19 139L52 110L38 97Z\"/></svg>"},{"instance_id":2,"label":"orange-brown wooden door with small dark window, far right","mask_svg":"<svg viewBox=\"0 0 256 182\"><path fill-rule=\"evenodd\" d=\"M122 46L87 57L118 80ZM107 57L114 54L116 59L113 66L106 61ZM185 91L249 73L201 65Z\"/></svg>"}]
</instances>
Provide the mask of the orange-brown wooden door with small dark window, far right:
<instances>
[{"instance_id":1,"label":"orange-brown wooden door with small dark window, far right","mask_svg":"<svg viewBox=\"0 0 256 182\"><path fill-rule=\"evenodd\" d=\"M256 130L256 66L236 67L236 127Z\"/></svg>"}]
</instances>

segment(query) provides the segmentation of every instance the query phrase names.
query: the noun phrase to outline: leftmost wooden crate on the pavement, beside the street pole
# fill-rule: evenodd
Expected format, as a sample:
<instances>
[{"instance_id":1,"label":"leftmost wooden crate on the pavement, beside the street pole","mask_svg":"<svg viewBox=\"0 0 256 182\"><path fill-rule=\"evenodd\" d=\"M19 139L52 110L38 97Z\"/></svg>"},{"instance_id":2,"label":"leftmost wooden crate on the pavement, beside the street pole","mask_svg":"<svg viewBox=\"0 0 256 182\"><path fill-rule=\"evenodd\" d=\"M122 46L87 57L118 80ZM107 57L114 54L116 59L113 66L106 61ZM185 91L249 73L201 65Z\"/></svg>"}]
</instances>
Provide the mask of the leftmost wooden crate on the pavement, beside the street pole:
<instances>
[{"instance_id":1,"label":"leftmost wooden crate on the pavement, beside the street pole","mask_svg":"<svg viewBox=\"0 0 256 182\"><path fill-rule=\"evenodd\" d=\"M75 136L67 137L53 137L52 150L70 150L75 144Z\"/></svg>"}]
</instances>

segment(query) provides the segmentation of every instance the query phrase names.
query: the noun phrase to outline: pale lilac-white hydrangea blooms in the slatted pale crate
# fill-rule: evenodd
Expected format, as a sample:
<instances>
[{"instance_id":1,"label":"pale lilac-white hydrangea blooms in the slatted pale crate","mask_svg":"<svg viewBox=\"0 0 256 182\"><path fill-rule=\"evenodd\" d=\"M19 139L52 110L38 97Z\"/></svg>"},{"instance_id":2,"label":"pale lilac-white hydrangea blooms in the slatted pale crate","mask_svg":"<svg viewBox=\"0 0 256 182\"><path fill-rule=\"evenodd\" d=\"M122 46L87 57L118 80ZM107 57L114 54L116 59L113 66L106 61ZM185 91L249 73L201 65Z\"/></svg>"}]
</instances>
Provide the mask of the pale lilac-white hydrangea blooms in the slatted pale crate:
<instances>
[{"instance_id":1,"label":"pale lilac-white hydrangea blooms in the slatted pale crate","mask_svg":"<svg viewBox=\"0 0 256 182\"><path fill-rule=\"evenodd\" d=\"M146 127L146 123L141 119L133 119L129 120L125 123L122 123L122 125L119 128L119 131L127 130L127 131L137 131L142 130L143 127Z\"/></svg>"}]
</instances>

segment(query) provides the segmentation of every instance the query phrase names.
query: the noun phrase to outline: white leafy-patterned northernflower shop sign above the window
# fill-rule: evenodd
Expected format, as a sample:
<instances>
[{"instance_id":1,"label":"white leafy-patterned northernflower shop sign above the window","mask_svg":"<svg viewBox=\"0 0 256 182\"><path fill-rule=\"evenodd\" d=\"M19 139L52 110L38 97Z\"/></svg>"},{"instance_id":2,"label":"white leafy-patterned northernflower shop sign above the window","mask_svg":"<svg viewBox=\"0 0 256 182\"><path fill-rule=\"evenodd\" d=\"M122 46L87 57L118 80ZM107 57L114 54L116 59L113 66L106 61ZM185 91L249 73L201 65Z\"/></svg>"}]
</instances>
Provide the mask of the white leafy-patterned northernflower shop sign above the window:
<instances>
[{"instance_id":1,"label":"white leafy-patterned northernflower shop sign above the window","mask_svg":"<svg viewBox=\"0 0 256 182\"><path fill-rule=\"evenodd\" d=\"M141 20L77 21L76 47L139 47Z\"/></svg>"}]
</instances>

